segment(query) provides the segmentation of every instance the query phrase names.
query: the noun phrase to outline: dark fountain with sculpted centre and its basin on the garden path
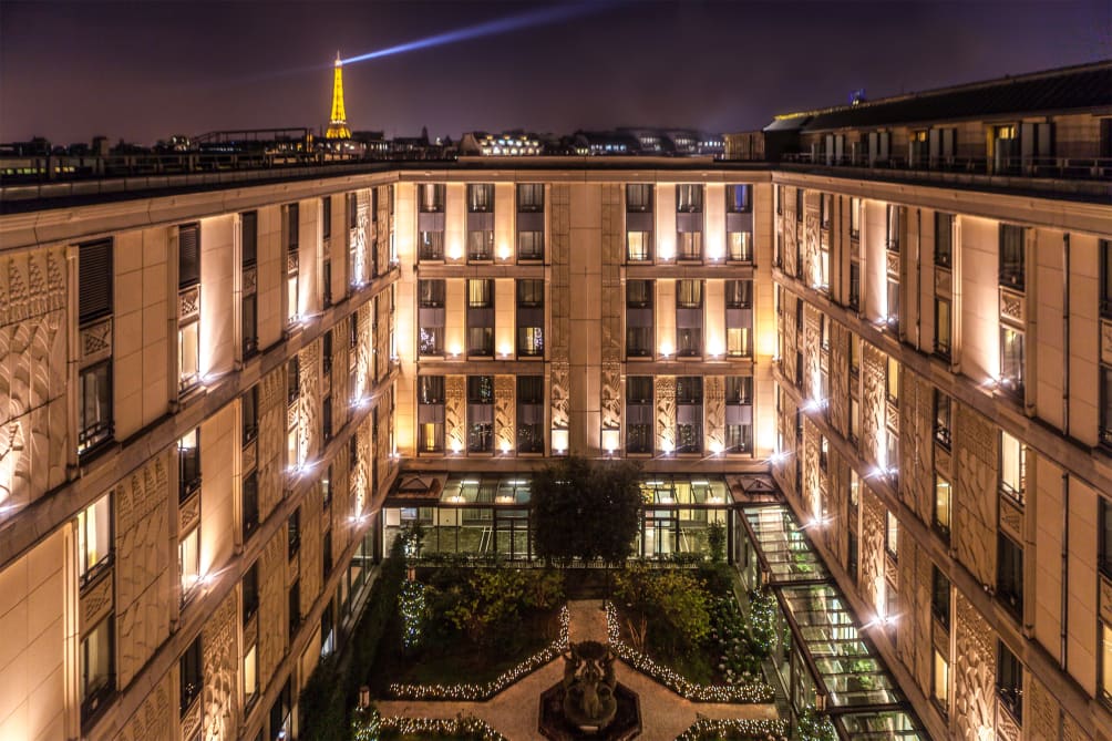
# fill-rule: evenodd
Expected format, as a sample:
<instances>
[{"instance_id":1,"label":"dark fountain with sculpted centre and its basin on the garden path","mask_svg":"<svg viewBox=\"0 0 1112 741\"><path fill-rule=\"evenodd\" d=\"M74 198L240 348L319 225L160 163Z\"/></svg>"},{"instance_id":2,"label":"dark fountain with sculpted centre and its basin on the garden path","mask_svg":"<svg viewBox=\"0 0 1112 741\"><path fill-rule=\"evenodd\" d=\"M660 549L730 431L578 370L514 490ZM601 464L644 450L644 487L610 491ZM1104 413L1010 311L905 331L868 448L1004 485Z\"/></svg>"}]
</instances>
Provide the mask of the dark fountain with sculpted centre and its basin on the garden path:
<instances>
[{"instance_id":1,"label":"dark fountain with sculpted centre and its basin on the garden path","mask_svg":"<svg viewBox=\"0 0 1112 741\"><path fill-rule=\"evenodd\" d=\"M625 741L641 733L637 694L614 678L615 659L605 643L568 645L563 681L540 694L542 735L552 741Z\"/></svg>"}]
</instances>

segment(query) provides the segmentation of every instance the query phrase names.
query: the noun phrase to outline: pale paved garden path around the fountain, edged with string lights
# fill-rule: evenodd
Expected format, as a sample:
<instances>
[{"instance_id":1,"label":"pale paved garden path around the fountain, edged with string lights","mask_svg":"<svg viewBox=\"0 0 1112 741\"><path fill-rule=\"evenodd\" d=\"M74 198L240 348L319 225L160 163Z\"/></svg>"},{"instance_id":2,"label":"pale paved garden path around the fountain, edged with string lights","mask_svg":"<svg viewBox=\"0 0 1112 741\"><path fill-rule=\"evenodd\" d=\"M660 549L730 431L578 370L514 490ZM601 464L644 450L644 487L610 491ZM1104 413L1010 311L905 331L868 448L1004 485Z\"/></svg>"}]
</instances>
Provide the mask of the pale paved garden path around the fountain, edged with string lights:
<instances>
[{"instance_id":1,"label":"pale paved garden path around the fountain, edged with string lights","mask_svg":"<svg viewBox=\"0 0 1112 741\"><path fill-rule=\"evenodd\" d=\"M568 635L573 643L606 641L606 613L600 600L568 603ZM692 702L618 660L617 680L641 696L642 732L638 741L673 741L699 718L777 718L773 704ZM540 693L564 678L564 662L556 659L512 684L485 702L383 700L383 715L404 718L455 718L460 713L481 718L510 741L543 739L537 731Z\"/></svg>"}]
</instances>

